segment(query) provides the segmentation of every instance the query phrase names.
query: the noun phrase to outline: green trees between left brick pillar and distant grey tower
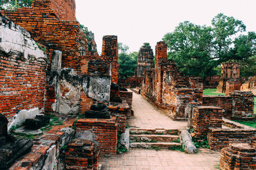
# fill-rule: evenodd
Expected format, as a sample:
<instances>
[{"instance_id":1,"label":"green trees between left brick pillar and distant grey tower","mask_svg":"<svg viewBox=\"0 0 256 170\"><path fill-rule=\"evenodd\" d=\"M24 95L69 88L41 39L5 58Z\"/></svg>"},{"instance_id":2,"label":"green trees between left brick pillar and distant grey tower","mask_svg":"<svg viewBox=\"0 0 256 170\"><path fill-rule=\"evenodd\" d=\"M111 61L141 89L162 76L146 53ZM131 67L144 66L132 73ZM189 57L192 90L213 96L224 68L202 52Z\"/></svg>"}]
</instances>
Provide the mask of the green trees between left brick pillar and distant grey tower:
<instances>
[{"instance_id":1,"label":"green trees between left brick pillar and distant grey tower","mask_svg":"<svg viewBox=\"0 0 256 170\"><path fill-rule=\"evenodd\" d=\"M119 77L129 78L134 76L137 66L138 52L128 53L129 47L118 43L118 64L119 64Z\"/></svg>"}]
</instances>

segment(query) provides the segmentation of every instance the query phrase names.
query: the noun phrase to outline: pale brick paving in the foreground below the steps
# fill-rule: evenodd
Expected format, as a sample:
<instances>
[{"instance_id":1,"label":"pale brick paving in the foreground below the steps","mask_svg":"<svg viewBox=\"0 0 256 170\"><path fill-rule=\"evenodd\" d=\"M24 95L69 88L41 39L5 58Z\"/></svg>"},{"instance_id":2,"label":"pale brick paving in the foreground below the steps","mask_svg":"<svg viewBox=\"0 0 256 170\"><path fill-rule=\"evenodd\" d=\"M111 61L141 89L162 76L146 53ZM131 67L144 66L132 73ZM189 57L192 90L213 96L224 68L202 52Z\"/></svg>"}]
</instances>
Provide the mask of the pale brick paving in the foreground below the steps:
<instances>
[{"instance_id":1,"label":"pale brick paving in the foreground below the steps","mask_svg":"<svg viewBox=\"0 0 256 170\"><path fill-rule=\"evenodd\" d=\"M188 154L136 148L117 157L100 159L102 170L216 170L219 162L220 153L205 149Z\"/></svg>"}]
</instances>

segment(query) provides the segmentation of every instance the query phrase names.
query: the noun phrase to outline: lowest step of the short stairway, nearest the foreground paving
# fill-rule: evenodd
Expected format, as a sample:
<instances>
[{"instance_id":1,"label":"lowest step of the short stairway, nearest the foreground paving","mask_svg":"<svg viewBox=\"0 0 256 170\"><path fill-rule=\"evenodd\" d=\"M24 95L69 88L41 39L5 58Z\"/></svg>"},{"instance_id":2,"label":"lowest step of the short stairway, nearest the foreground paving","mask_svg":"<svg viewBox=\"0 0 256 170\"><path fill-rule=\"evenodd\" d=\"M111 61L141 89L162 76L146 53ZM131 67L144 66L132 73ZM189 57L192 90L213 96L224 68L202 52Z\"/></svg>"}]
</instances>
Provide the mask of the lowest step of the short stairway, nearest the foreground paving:
<instances>
[{"instance_id":1,"label":"lowest step of the short stairway, nearest the foreground paving","mask_svg":"<svg viewBox=\"0 0 256 170\"><path fill-rule=\"evenodd\" d=\"M130 148L166 148L173 146L180 146L180 143L174 142L156 142L156 143L146 143L146 142L134 142L130 143Z\"/></svg>"}]
</instances>

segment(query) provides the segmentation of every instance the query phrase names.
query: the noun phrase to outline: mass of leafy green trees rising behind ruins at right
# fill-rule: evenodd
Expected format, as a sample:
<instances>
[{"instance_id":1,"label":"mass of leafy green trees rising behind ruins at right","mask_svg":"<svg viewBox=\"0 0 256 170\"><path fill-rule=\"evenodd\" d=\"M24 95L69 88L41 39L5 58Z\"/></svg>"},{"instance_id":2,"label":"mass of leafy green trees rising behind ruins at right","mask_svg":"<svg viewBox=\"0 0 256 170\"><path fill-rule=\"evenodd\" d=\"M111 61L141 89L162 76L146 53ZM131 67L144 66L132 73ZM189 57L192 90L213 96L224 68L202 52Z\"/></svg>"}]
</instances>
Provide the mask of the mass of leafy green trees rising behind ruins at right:
<instances>
[{"instance_id":1,"label":"mass of leafy green trees rising behind ruins at right","mask_svg":"<svg viewBox=\"0 0 256 170\"><path fill-rule=\"evenodd\" d=\"M246 31L241 20L220 13L212 25L180 23L175 31L164 35L168 46L168 59L175 60L179 70L189 76L212 76L220 73L220 64L234 60L244 64L241 75L254 76L256 69L256 34ZM240 36L236 36L240 34Z\"/></svg>"}]
</instances>

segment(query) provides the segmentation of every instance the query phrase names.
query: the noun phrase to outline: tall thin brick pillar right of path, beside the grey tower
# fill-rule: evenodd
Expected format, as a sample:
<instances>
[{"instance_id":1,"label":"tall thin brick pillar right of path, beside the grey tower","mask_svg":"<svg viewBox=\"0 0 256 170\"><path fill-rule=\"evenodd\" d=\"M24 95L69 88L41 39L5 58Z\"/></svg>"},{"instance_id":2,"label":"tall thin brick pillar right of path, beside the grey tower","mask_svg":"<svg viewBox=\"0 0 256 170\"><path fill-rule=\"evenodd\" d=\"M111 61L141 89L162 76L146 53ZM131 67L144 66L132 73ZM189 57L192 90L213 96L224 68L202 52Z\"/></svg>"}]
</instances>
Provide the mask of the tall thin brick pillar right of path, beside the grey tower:
<instances>
[{"instance_id":1,"label":"tall thin brick pillar right of path, beside the grey tower","mask_svg":"<svg viewBox=\"0 0 256 170\"><path fill-rule=\"evenodd\" d=\"M162 103L163 92L163 65L167 61L167 45L164 41L157 42L156 59L155 59L155 84L156 99L158 103Z\"/></svg>"}]
</instances>

